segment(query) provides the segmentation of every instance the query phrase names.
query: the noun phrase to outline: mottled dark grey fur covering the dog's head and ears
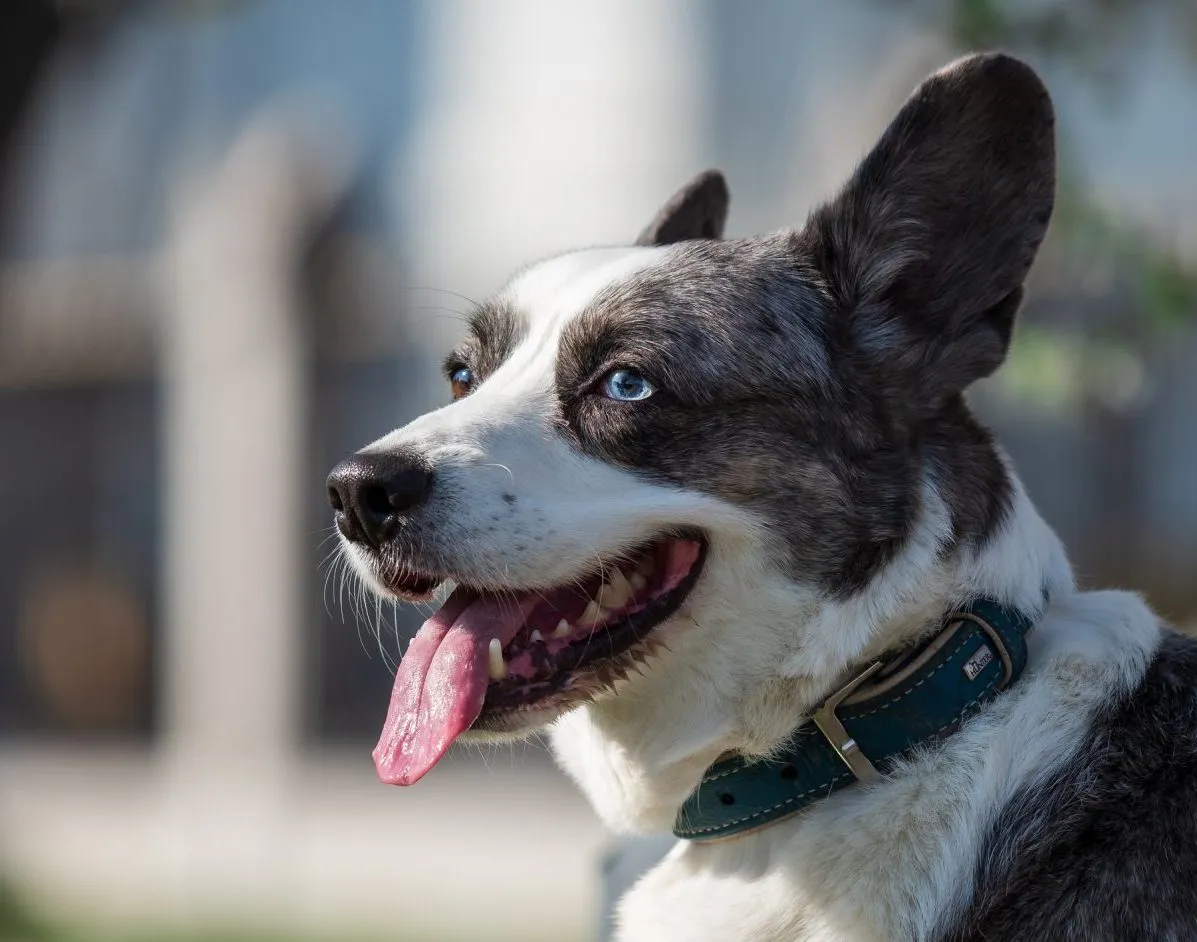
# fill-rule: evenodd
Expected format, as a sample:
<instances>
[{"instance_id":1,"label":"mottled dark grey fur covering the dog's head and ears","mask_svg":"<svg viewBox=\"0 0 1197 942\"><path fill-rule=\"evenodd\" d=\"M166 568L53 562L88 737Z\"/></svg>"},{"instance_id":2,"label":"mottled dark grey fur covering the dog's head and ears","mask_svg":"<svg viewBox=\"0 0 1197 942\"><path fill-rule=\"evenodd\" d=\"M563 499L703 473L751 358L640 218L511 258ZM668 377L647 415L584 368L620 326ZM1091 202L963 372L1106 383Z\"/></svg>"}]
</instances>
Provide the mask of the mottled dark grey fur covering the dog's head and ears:
<instances>
[{"instance_id":1,"label":"mottled dark grey fur covering the dog's head and ears","mask_svg":"<svg viewBox=\"0 0 1197 942\"><path fill-rule=\"evenodd\" d=\"M667 261L570 326L560 425L590 455L770 521L794 578L863 588L906 540L930 476L949 552L1003 519L1010 485L962 391L1005 354L1055 186L1034 73L977 56L929 79L800 232L718 241L727 188L683 187L640 242ZM485 308L450 358L479 378L518 334ZM614 366L660 391L595 395Z\"/></svg>"}]
</instances>

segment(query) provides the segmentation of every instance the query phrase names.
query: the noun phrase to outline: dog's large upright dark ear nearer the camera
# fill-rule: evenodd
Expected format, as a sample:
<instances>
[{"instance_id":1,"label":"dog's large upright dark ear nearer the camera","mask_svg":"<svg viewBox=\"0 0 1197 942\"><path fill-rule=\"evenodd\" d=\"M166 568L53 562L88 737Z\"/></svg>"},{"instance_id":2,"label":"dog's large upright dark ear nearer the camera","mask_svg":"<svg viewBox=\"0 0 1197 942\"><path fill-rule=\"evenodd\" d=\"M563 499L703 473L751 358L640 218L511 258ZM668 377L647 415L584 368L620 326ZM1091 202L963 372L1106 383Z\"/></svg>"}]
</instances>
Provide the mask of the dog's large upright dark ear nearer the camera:
<instances>
[{"instance_id":1,"label":"dog's large upright dark ear nearer the camera","mask_svg":"<svg viewBox=\"0 0 1197 942\"><path fill-rule=\"evenodd\" d=\"M802 241L862 352L934 406L1005 358L1055 192L1047 90L976 55L915 91Z\"/></svg>"}]
</instances>

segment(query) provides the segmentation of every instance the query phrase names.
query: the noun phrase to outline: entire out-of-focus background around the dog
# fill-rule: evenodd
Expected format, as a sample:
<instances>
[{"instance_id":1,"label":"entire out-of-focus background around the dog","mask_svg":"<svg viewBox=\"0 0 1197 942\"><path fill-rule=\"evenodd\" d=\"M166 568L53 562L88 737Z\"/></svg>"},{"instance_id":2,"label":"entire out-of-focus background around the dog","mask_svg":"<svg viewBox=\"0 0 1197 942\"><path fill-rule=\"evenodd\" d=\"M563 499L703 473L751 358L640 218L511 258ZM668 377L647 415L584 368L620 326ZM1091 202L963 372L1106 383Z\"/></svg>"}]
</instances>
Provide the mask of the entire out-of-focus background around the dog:
<instances>
[{"instance_id":1,"label":"entire out-of-focus background around the dog","mask_svg":"<svg viewBox=\"0 0 1197 942\"><path fill-rule=\"evenodd\" d=\"M539 747L376 783L421 614L342 585L324 475L515 267L711 165L730 235L801 224L996 47L1061 197L976 402L1082 579L1191 624L1190 0L5 0L0 938L593 937Z\"/></svg>"}]
</instances>

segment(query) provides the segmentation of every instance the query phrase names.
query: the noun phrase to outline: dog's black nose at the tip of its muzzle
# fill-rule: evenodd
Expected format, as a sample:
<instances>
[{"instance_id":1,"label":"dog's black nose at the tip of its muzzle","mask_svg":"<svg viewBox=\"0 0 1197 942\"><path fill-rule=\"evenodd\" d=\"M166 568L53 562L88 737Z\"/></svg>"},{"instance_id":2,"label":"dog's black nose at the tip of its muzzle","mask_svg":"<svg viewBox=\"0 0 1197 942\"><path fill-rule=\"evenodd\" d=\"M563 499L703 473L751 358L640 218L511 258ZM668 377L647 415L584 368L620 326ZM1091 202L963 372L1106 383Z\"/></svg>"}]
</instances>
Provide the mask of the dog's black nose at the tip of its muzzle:
<instances>
[{"instance_id":1,"label":"dog's black nose at the tip of its muzzle","mask_svg":"<svg viewBox=\"0 0 1197 942\"><path fill-rule=\"evenodd\" d=\"M381 546L400 517L429 496L432 473L407 452L357 454L328 475L336 528L356 543Z\"/></svg>"}]
</instances>

